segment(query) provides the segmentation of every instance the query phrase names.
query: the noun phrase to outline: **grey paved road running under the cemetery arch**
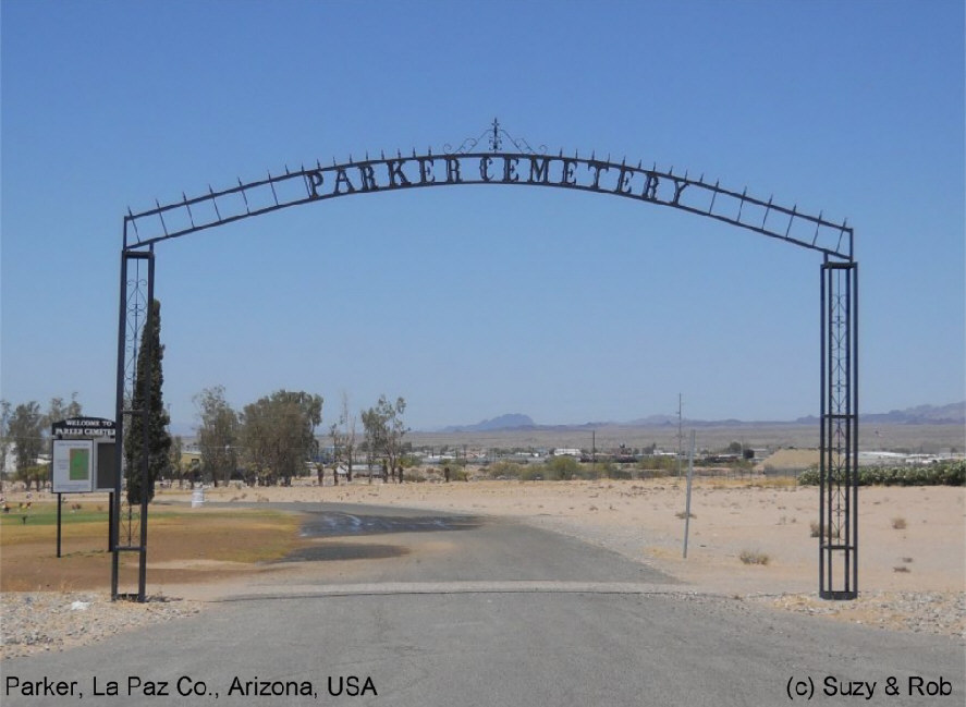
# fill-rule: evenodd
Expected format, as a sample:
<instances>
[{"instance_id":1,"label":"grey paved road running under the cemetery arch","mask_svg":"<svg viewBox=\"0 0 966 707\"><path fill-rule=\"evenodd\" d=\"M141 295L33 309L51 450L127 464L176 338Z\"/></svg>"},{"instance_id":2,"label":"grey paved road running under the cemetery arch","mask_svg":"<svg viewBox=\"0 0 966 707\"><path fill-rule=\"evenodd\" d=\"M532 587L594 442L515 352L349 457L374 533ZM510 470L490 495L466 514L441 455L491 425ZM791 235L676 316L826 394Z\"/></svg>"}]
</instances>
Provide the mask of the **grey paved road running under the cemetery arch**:
<instances>
[{"instance_id":1,"label":"grey paved road running under the cemetery arch","mask_svg":"<svg viewBox=\"0 0 966 707\"><path fill-rule=\"evenodd\" d=\"M8 695L3 706L758 707L787 704L790 688L807 702L796 693L809 687L819 705L964 704L964 650L951 639L688 595L615 553L506 521L313 510L315 554L200 618L4 661L4 688L46 679L75 696ZM909 696L910 679L951 694ZM95 695L95 680L120 695Z\"/></svg>"}]
</instances>

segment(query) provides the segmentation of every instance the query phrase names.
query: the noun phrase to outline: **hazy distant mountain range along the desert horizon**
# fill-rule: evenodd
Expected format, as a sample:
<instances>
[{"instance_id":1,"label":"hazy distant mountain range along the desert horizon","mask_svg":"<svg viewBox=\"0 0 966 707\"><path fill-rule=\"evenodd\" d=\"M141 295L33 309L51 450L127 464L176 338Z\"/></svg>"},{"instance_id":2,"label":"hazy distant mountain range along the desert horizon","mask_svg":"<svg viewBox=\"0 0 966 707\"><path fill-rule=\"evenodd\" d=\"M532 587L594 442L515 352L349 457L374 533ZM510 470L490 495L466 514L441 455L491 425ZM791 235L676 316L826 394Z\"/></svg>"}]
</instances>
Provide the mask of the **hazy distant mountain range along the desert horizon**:
<instances>
[{"instance_id":1,"label":"hazy distant mountain range along the desert horizon","mask_svg":"<svg viewBox=\"0 0 966 707\"><path fill-rule=\"evenodd\" d=\"M888 413L869 413L859 417L866 425L966 425L966 401L949 405L917 405L905 410L893 410ZM818 423L818 417L809 415L794 420L741 420L729 419L688 419L682 420L689 427L737 427L741 425L810 425ZM629 422L598 422L573 425L538 425L529 415L510 413L485 419L475 425L451 425L438 431L442 432L492 432L505 429L580 429L607 426L621 427L663 427L677 425L676 415L650 415Z\"/></svg>"}]
</instances>

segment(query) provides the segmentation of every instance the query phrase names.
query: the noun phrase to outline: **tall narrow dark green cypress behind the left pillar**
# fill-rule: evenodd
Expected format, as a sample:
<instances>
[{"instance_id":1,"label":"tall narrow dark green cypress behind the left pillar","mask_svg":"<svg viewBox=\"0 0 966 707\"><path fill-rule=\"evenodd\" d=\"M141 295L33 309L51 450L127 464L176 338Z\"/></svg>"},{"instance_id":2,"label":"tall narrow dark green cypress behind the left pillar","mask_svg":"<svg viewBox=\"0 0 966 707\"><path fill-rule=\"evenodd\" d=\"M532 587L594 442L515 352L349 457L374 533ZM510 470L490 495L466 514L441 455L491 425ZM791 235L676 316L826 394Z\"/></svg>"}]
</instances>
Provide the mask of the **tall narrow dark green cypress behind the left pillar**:
<instances>
[{"instance_id":1,"label":"tall narrow dark green cypress behind the left pillar","mask_svg":"<svg viewBox=\"0 0 966 707\"><path fill-rule=\"evenodd\" d=\"M161 397L164 382L161 373L161 359L164 357L164 348L161 345L161 303L157 300L151 301L151 326L145 326L142 330L140 346L137 350L134 398L131 407L138 412L131 415L127 429L124 430L127 501L132 504L142 502L142 455L146 453L148 456L146 489L148 501L155 497L155 482L170 464L168 456L171 449L171 436L168 434L170 419ZM150 356L145 355L148 348ZM144 381L148 378L150 378L150 403L147 414L147 450L144 450L145 420L139 411L145 407Z\"/></svg>"}]
</instances>

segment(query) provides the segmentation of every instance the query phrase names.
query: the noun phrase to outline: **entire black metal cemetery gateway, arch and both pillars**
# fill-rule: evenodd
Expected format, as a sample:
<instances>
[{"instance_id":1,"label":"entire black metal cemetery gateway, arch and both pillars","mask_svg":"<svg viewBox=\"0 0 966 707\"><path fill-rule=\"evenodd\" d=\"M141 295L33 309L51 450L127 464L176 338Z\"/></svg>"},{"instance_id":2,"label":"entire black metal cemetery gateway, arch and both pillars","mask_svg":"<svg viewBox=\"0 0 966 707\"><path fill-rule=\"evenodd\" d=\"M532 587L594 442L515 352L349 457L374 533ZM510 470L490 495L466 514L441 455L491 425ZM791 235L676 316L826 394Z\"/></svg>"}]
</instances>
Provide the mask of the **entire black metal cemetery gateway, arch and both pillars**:
<instances>
[{"instance_id":1,"label":"entire black metal cemetery gateway, arch and both pillars","mask_svg":"<svg viewBox=\"0 0 966 707\"><path fill-rule=\"evenodd\" d=\"M486 141L486 142L485 142ZM504 149L504 145L509 148ZM488 149L482 149L485 146ZM650 169L598 159L547 154L526 141L514 139L493 121L491 127L458 147L443 147L404 157L387 157L322 166L288 167L283 174L215 191L124 217L121 251L121 294L118 325L117 463L123 462L125 417L147 418L149 391L140 410L127 407L134 400L140 332L150 326L154 298L155 245L197 231L224 225L283 208L342 196L432 186L464 184L524 185L568 188L608 194L668 206L739 227L822 254L821 381L820 381L820 541L819 594L827 599L853 599L858 595L858 265L854 258L854 232L844 221L833 223L821 214L799 212L749 196L747 190L726 190L704 175L690 178L657 166ZM145 428L147 425L144 426ZM146 486L148 459L137 461ZM121 508L119 475L111 526L111 596L117 598L119 556L139 556L137 599L145 599L147 552L147 501L138 514Z\"/></svg>"}]
</instances>

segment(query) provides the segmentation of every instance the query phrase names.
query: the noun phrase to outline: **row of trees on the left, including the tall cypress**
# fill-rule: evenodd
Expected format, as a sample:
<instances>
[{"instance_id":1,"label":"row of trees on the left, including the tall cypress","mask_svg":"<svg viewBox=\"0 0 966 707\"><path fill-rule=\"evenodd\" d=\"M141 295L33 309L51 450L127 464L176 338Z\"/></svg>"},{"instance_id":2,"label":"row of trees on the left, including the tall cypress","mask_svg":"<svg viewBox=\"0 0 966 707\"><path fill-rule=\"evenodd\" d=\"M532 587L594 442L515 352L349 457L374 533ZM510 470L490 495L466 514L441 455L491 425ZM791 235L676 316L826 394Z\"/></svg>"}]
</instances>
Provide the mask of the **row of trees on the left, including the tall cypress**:
<instances>
[{"instance_id":1,"label":"row of trees on the left, including the tall cypress","mask_svg":"<svg viewBox=\"0 0 966 707\"><path fill-rule=\"evenodd\" d=\"M131 503L139 503L146 495L154 498L160 479L184 480L191 470L182 463L184 441L169 431L170 417L163 402L161 344L161 307L151 303L151 327L144 327L136 361L133 394L125 407L136 411L124 419L124 466L126 496ZM146 352L149 355L146 355ZM145 405L145 393L149 403ZM194 398L198 409L199 425L197 444L200 451L200 468L195 470L204 480L216 486L225 485L232 478L261 485L290 485L293 476L301 476L307 464L319 452L317 428L322 424L321 395L306 391L277 390L257 401L234 410L225 398L223 386L204 389ZM335 468L347 467L352 480L353 459L357 451L365 451L369 468L381 461L383 480L390 475L402 482L402 439L408 431L403 422L406 402L394 402L380 395L376 405L359 416L351 413L349 398L343 394L340 414L330 428L332 438L333 476ZM0 490L11 470L7 459L11 449L15 453L14 478L37 489L49 477L48 466L39 464L39 458L50 449L51 423L82 415L76 393L70 403L54 398L46 413L36 401L12 406L0 401ZM357 439L362 420L363 438ZM147 455L148 484L142 488L140 462ZM319 480L323 470L318 466ZM370 476L371 479L371 476Z\"/></svg>"}]
</instances>

